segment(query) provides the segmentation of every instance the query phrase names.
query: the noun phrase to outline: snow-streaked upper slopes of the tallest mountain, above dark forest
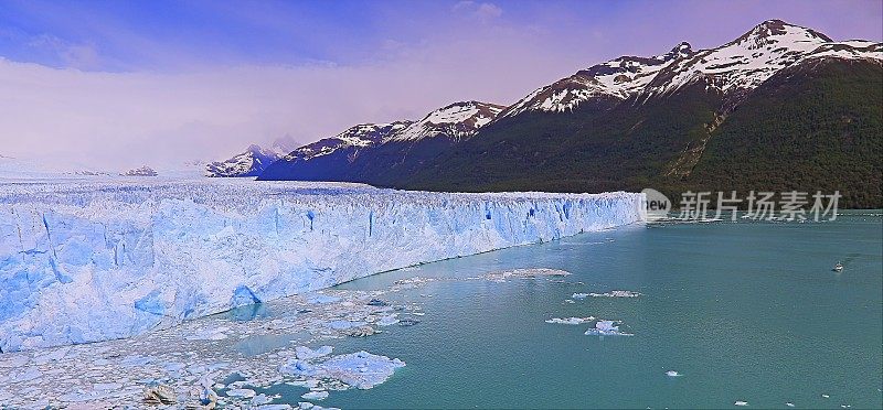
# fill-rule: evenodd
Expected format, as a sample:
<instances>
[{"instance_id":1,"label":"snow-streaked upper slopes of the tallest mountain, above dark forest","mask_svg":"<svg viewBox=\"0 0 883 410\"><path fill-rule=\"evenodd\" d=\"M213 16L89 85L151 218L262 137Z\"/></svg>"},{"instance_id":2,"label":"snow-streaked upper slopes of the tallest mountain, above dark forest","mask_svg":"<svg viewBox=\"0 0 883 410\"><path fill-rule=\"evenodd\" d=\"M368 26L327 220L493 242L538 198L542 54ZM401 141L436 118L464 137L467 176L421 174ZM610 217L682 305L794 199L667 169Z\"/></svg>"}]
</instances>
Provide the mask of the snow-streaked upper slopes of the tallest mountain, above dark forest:
<instances>
[{"instance_id":1,"label":"snow-streaked upper slopes of the tallest mountain, above dark forest","mask_svg":"<svg viewBox=\"0 0 883 410\"><path fill-rule=\"evenodd\" d=\"M780 69L813 58L881 61L881 44L834 42L815 30L767 20L722 46L693 51L681 43L651 56L623 56L541 87L500 117L524 111L564 112L593 98L645 101L704 82L722 94L738 94L763 84Z\"/></svg>"}]
</instances>

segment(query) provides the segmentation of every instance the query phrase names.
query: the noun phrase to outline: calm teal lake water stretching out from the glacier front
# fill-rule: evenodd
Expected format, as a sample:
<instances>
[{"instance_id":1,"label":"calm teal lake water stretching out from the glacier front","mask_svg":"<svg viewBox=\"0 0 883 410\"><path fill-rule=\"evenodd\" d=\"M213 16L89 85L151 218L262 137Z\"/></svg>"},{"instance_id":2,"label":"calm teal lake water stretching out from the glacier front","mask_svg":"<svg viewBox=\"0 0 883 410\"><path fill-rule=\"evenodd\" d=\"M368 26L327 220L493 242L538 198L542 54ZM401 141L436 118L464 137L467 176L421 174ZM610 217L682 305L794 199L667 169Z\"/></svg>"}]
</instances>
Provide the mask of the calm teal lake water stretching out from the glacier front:
<instances>
[{"instance_id":1,"label":"calm teal lake water stretching out from the glacier front","mask_svg":"<svg viewBox=\"0 0 883 410\"><path fill-rule=\"evenodd\" d=\"M838 274L832 266L843 261ZM371 390L333 391L342 408L883 407L883 218L630 227L429 263L341 285L557 268L547 280L439 281L401 292L426 315L348 338L407 366ZM577 282L583 282L582 284ZM637 299L574 292L631 290ZM424 294L426 296L422 296ZM428 296L430 295L430 296ZM598 337L550 317L621 320ZM677 370L682 377L667 377ZM297 402L306 389L280 388ZM279 390L277 390L278 392ZM829 395L823 398L821 395Z\"/></svg>"}]
</instances>

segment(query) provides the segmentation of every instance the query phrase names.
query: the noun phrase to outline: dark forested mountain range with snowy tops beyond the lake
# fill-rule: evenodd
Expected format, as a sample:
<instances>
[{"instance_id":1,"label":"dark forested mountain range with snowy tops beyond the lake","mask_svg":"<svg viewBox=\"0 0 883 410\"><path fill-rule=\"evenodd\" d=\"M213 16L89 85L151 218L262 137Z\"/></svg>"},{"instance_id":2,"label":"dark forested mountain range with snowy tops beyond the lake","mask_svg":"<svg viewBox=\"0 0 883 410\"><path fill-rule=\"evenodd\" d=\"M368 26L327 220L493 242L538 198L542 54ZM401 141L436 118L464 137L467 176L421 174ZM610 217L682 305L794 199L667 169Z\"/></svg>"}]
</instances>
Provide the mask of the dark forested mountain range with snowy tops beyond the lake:
<instances>
[{"instance_id":1,"label":"dark forested mountain range with snowy tops beyond the lake","mask_svg":"<svg viewBox=\"0 0 883 410\"><path fill-rule=\"evenodd\" d=\"M462 101L300 147L259 180L430 191L839 190L883 207L883 45L768 20L576 72L503 107Z\"/></svg>"}]
</instances>

